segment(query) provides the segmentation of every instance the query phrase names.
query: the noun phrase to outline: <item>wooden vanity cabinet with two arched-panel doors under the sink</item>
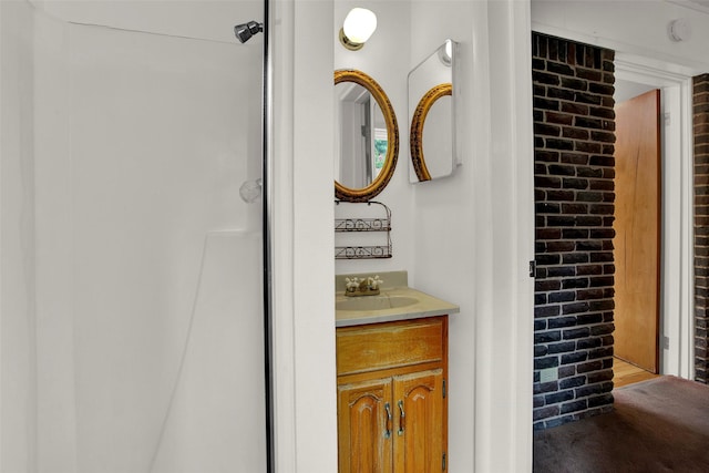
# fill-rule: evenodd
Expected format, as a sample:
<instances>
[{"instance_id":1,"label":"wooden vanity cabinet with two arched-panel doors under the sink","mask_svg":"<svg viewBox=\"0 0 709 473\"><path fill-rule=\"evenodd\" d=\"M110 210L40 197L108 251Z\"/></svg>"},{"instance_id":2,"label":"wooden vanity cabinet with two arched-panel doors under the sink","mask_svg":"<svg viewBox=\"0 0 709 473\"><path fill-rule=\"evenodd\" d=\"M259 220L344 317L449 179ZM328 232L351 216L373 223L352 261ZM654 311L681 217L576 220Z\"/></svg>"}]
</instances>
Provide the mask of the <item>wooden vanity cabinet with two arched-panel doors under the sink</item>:
<instances>
[{"instance_id":1,"label":"wooden vanity cabinet with two arched-panel doors under the sink","mask_svg":"<svg viewBox=\"0 0 709 473\"><path fill-rule=\"evenodd\" d=\"M448 316L337 329L340 473L446 470Z\"/></svg>"}]
</instances>

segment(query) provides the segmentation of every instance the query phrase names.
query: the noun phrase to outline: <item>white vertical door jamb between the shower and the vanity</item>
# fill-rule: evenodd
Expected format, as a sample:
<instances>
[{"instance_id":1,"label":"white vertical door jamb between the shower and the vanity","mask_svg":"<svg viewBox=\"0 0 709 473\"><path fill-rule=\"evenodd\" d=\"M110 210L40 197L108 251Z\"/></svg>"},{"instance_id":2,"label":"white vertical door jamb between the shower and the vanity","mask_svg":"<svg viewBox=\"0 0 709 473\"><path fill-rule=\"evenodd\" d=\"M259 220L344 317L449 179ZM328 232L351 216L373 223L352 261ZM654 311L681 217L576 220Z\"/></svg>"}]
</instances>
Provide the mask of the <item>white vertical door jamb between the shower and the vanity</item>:
<instances>
[{"instance_id":1,"label":"white vertical door jamb between the shower and the vanity","mask_svg":"<svg viewBox=\"0 0 709 473\"><path fill-rule=\"evenodd\" d=\"M335 110L328 27L333 7L329 0L276 1L273 7L274 205L269 224L276 467L279 472L333 472L335 166L329 152L332 132L325 132L330 130L327 124L333 122Z\"/></svg>"}]
</instances>

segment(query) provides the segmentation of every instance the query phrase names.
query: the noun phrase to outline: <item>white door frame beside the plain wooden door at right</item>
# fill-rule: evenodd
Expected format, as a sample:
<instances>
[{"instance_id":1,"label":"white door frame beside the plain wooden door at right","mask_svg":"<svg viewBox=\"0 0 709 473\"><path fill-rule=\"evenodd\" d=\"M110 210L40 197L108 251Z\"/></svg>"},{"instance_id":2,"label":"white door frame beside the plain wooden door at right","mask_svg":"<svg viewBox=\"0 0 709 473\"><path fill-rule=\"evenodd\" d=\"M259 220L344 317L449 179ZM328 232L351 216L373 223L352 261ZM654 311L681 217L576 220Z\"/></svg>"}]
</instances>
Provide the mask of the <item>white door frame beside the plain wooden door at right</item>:
<instances>
[{"instance_id":1,"label":"white door frame beside the plain wooden door at right","mask_svg":"<svg viewBox=\"0 0 709 473\"><path fill-rule=\"evenodd\" d=\"M691 78L616 55L616 103L659 91L660 204L657 372L693 376ZM618 363L620 364L620 363Z\"/></svg>"}]
</instances>

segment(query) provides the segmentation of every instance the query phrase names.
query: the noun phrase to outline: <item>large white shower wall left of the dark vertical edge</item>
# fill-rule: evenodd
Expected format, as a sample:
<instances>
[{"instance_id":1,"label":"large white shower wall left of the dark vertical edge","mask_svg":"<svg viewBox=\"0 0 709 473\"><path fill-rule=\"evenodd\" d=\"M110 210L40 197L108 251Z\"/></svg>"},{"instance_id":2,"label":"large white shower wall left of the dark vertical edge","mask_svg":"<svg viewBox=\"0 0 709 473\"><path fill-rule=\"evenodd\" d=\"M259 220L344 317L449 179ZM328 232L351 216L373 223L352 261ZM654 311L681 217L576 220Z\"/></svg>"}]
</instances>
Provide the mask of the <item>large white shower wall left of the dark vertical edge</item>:
<instances>
[{"instance_id":1,"label":"large white shower wall left of the dark vertical edge","mask_svg":"<svg viewBox=\"0 0 709 473\"><path fill-rule=\"evenodd\" d=\"M150 31L140 7L156 2L65 2L74 16L86 6L74 18L56 18L62 2L12 3L2 25L25 22L18 48L33 61L10 109L25 119L23 153L6 153L2 125L1 470L257 471L260 209L238 187L260 176L260 40ZM235 3L230 25L263 16ZM9 438L18 426L22 440Z\"/></svg>"}]
</instances>

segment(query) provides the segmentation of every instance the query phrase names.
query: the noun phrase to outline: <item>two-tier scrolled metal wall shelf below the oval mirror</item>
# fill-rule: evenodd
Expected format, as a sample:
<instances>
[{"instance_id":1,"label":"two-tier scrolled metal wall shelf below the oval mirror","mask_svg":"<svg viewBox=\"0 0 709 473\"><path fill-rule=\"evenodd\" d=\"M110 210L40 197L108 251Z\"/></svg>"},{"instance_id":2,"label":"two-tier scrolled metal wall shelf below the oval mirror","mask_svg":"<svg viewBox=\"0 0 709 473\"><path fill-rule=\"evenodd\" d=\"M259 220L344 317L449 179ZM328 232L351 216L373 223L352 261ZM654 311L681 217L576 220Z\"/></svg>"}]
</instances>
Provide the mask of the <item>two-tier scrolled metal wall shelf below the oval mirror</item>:
<instances>
[{"instance_id":1,"label":"two-tier scrolled metal wall shelf below the oval mirror","mask_svg":"<svg viewBox=\"0 0 709 473\"><path fill-rule=\"evenodd\" d=\"M384 210L384 217L357 217L336 218L336 233L354 232L384 232L387 234L387 245L374 246L336 246L335 259L379 259L391 258L391 210L381 202L369 200L363 203L335 200L336 205L379 205Z\"/></svg>"}]
</instances>

